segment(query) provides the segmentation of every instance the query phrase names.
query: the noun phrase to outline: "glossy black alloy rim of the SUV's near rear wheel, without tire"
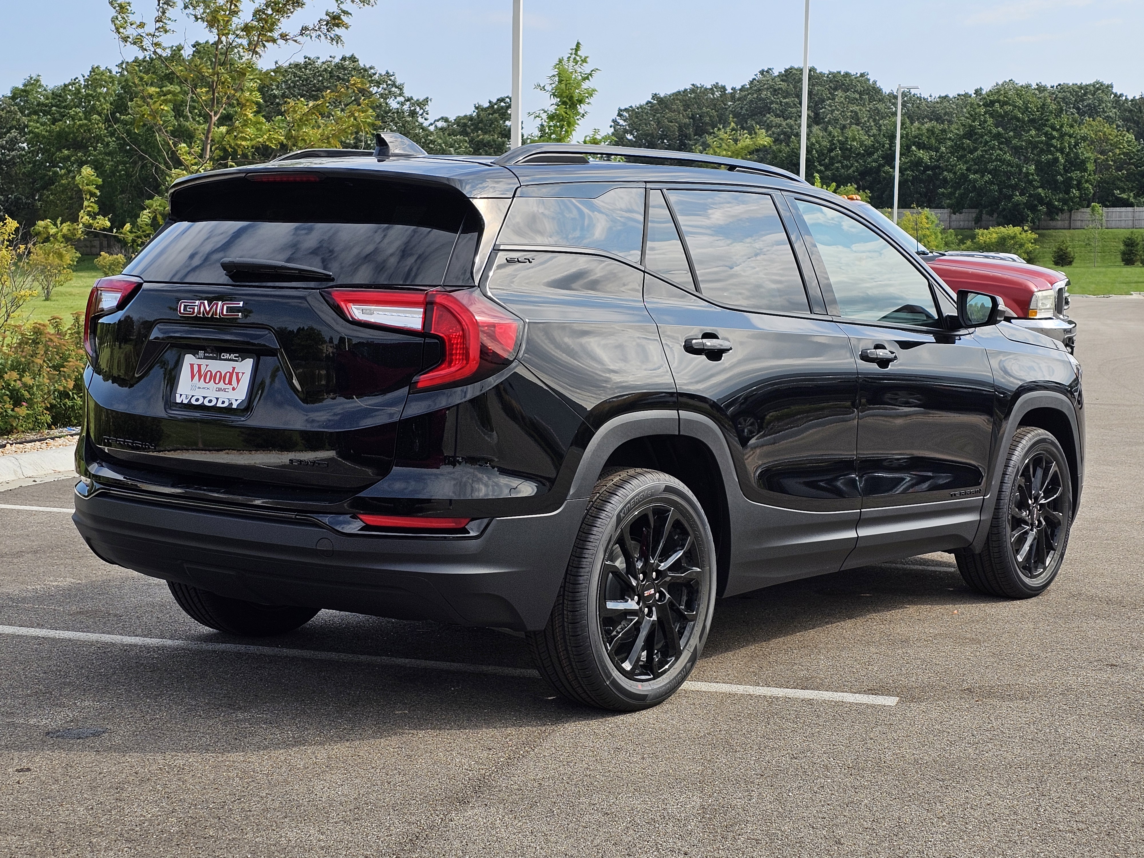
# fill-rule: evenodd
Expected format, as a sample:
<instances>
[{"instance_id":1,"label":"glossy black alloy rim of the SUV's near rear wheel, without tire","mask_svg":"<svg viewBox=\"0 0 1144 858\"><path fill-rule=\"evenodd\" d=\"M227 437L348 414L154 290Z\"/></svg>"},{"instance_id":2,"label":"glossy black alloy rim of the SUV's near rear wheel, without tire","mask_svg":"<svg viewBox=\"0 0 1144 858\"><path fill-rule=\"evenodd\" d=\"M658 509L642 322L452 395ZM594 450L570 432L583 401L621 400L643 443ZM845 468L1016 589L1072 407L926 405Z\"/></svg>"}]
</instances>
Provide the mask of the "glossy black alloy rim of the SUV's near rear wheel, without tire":
<instances>
[{"instance_id":1,"label":"glossy black alloy rim of the SUV's near rear wheel, without tire","mask_svg":"<svg viewBox=\"0 0 1144 858\"><path fill-rule=\"evenodd\" d=\"M607 657L635 682L676 665L696 630L702 570L680 510L652 502L622 522L604 559L597 617Z\"/></svg>"}]
</instances>

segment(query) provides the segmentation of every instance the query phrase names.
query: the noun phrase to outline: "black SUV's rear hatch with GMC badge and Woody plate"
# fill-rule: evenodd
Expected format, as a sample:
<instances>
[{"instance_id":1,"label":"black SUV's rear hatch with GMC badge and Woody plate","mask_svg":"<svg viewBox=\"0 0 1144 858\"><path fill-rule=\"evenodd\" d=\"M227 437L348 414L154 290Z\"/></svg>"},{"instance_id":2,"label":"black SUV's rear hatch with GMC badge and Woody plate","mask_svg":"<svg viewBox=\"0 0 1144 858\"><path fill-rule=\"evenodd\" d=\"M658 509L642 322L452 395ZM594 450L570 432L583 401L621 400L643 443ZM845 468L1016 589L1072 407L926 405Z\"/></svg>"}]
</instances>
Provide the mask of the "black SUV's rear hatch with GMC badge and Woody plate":
<instances>
[{"instance_id":1,"label":"black SUV's rear hatch with GMC badge and Woody plate","mask_svg":"<svg viewBox=\"0 0 1144 858\"><path fill-rule=\"evenodd\" d=\"M472 285L480 224L454 189L331 170L176 186L162 231L93 291L88 471L304 508L374 484L442 360L426 295Z\"/></svg>"}]
</instances>

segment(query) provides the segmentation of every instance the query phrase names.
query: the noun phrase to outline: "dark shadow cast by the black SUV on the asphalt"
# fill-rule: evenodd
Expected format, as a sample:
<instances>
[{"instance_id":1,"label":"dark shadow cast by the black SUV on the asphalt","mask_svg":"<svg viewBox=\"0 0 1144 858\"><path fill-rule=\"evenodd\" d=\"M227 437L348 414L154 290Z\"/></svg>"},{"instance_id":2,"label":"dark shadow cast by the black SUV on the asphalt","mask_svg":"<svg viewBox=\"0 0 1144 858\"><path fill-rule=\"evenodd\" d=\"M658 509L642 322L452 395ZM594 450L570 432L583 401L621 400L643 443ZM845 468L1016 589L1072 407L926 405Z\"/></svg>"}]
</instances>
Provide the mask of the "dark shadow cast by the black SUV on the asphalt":
<instances>
[{"instance_id":1,"label":"dark shadow cast by the black SUV on the asphalt","mask_svg":"<svg viewBox=\"0 0 1144 858\"><path fill-rule=\"evenodd\" d=\"M72 615L59 617L62 621L54 625L212 643L529 666L524 642L492 629L329 611L272 638L210 633L167 602L166 587L152 591L135 578L116 587L125 590L121 606L127 610L120 620L134 626L133 615L145 622L158 618L164 626L161 630L124 627L84 607L94 606L95 591L88 589L106 598L108 586L86 582L56 590L53 601L71 606ZM704 658L909 605L991 601L969 590L952 558L942 555L848 570L720 601ZM33 625L32 619L6 610L0 621ZM5 645L6 684L16 693L0 704L0 749L47 745L57 750L238 753L421 731L546 730L626 717L567 702L539 677L42 638L10 637ZM106 732L78 741L46 736L86 729Z\"/></svg>"}]
</instances>

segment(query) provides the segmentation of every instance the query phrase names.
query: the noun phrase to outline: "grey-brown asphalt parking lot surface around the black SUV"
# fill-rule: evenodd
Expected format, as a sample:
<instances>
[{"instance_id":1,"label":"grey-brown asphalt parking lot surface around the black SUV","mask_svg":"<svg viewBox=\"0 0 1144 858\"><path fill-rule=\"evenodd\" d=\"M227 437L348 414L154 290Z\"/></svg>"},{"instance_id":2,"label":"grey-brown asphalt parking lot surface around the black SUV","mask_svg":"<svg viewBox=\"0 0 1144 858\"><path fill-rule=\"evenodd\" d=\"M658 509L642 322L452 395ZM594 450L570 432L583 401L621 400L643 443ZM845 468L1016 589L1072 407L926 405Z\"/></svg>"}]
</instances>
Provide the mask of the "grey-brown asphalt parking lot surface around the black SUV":
<instances>
[{"instance_id":1,"label":"grey-brown asphalt parking lot surface around the black SUV","mask_svg":"<svg viewBox=\"0 0 1144 858\"><path fill-rule=\"evenodd\" d=\"M1072 312L1088 469L1043 596L978 596L944 554L782 585L718 604L692 677L897 705L614 715L522 670L0 631L0 855L1141 855L1144 300ZM71 503L0 492L0 626L243 643L10 508ZM333 612L260 643L530 667L502 633Z\"/></svg>"}]
</instances>

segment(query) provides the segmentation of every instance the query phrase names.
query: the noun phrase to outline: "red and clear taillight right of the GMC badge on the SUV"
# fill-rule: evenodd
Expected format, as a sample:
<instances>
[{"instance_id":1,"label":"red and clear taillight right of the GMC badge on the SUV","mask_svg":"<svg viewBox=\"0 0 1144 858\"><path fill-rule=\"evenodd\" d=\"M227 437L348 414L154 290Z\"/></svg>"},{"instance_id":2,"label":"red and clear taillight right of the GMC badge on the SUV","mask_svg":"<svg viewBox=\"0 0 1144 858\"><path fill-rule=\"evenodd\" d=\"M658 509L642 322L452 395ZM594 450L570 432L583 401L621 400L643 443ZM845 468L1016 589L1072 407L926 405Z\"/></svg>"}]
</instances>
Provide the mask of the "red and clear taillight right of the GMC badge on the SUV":
<instances>
[{"instance_id":1,"label":"red and clear taillight right of the GMC badge on the SUV","mask_svg":"<svg viewBox=\"0 0 1144 858\"><path fill-rule=\"evenodd\" d=\"M350 321L421 331L440 343L442 359L413 379L414 390L488 378L513 363L521 347L524 323L477 289L331 289L326 294Z\"/></svg>"}]
</instances>

